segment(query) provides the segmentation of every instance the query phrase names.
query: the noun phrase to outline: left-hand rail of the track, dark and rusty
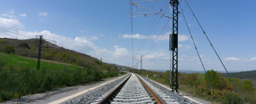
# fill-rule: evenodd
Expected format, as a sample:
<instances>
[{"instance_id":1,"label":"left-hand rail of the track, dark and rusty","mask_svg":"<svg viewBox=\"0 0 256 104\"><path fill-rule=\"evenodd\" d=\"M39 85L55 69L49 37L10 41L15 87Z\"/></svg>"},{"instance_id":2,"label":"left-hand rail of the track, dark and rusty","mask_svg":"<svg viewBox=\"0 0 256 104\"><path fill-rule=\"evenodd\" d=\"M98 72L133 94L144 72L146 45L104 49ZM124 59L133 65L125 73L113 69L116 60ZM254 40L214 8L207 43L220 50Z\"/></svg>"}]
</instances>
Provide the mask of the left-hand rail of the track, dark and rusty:
<instances>
[{"instance_id":1,"label":"left-hand rail of the track, dark and rusty","mask_svg":"<svg viewBox=\"0 0 256 104\"><path fill-rule=\"evenodd\" d=\"M117 86L113 91L111 91L107 96L105 96L103 99L101 99L97 104L106 104L109 103L109 101L113 100L113 96L120 91L120 88L124 86L124 84L129 80L132 74L130 74L119 86Z\"/></svg>"}]
</instances>

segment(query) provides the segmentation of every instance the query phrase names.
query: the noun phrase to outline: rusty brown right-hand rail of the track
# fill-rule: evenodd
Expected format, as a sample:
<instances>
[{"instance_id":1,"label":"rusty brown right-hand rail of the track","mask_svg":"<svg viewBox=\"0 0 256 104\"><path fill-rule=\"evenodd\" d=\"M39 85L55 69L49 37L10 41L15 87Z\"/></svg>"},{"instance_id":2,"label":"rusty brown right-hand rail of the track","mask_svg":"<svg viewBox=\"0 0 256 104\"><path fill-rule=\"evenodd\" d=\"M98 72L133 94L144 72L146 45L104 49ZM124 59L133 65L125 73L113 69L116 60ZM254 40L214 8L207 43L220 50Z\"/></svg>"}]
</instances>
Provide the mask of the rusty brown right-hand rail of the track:
<instances>
[{"instance_id":1,"label":"rusty brown right-hand rail of the track","mask_svg":"<svg viewBox=\"0 0 256 104\"><path fill-rule=\"evenodd\" d=\"M148 89L149 93L152 95L152 97L155 99L155 101L158 103L158 104L167 104L158 94L156 94L156 92L150 88L148 86L148 84L146 84L137 74L135 74L139 81L142 82L142 84Z\"/></svg>"}]
</instances>

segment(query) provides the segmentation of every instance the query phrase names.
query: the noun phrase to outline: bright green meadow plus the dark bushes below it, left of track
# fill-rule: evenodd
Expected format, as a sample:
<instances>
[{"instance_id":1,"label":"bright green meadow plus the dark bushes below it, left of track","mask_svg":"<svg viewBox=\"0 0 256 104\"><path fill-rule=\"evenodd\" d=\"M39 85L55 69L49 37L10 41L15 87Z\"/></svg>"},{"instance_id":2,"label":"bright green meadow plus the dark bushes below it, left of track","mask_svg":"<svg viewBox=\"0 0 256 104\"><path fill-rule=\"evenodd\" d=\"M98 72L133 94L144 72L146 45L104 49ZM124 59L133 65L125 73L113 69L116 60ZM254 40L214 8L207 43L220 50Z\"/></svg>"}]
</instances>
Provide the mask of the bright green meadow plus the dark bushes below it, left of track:
<instances>
[{"instance_id":1,"label":"bright green meadow plus the dark bushes below it, left of track","mask_svg":"<svg viewBox=\"0 0 256 104\"><path fill-rule=\"evenodd\" d=\"M35 59L0 53L0 102L125 74L54 61L41 61L40 66L38 71Z\"/></svg>"}]
</instances>

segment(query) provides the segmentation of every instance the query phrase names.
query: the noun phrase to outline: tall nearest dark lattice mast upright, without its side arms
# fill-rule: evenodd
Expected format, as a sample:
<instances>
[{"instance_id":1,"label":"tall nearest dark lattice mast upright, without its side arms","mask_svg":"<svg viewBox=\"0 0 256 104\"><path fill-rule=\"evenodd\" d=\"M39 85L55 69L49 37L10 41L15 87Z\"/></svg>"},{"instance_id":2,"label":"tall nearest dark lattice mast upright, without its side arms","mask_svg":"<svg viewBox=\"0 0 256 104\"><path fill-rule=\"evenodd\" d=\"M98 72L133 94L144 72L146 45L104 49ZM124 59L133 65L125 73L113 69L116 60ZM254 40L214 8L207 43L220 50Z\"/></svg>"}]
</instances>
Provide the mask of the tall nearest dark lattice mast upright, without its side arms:
<instances>
[{"instance_id":1,"label":"tall nearest dark lattice mast upright, without its side arms","mask_svg":"<svg viewBox=\"0 0 256 104\"><path fill-rule=\"evenodd\" d=\"M172 12L172 33L170 34L170 46L169 50L171 51L171 69L172 69L172 83L170 87L172 92L178 93L178 0L170 0L171 12Z\"/></svg>"}]
</instances>

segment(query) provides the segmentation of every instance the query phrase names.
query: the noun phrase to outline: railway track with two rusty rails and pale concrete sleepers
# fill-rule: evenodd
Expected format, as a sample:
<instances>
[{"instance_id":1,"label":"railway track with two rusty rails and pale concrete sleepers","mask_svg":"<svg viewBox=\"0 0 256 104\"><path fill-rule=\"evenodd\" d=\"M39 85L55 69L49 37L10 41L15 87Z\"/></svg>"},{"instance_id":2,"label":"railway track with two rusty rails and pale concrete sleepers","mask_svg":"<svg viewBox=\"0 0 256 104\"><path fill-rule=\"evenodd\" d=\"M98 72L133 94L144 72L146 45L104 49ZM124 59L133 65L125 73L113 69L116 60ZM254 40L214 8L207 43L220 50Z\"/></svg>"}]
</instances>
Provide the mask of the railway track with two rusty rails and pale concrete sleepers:
<instances>
[{"instance_id":1,"label":"railway track with two rusty rails and pale concrete sleepers","mask_svg":"<svg viewBox=\"0 0 256 104\"><path fill-rule=\"evenodd\" d=\"M136 74L131 74L92 104L179 104Z\"/></svg>"}]
</instances>

